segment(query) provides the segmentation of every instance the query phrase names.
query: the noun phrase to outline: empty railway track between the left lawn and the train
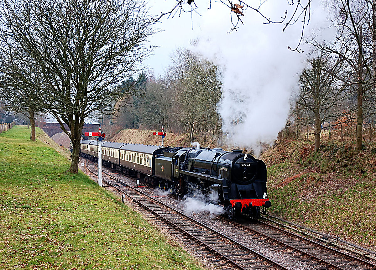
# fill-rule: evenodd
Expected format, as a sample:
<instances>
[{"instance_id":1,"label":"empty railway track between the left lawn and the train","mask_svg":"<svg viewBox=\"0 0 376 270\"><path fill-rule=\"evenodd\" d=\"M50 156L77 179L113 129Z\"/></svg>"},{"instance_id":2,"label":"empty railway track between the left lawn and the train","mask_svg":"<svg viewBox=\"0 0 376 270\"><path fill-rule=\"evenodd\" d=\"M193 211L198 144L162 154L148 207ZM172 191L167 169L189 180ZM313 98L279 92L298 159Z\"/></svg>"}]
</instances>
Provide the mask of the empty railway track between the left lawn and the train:
<instances>
[{"instance_id":1,"label":"empty railway track between the left lawn and the train","mask_svg":"<svg viewBox=\"0 0 376 270\"><path fill-rule=\"evenodd\" d=\"M94 164L90 167L88 163L89 161L86 161L86 168L91 173L97 175L97 172L94 170ZM212 262L216 263L217 266L224 267L223 269L230 269L228 267L233 266L237 269L289 270L284 265L280 265L261 253L171 208L114 175L105 171L102 172L106 174L106 179L102 178L103 182L120 191L120 193L132 199L133 202L138 203L138 205L152 212L171 227L200 244L202 254L212 259Z\"/></svg>"}]
</instances>

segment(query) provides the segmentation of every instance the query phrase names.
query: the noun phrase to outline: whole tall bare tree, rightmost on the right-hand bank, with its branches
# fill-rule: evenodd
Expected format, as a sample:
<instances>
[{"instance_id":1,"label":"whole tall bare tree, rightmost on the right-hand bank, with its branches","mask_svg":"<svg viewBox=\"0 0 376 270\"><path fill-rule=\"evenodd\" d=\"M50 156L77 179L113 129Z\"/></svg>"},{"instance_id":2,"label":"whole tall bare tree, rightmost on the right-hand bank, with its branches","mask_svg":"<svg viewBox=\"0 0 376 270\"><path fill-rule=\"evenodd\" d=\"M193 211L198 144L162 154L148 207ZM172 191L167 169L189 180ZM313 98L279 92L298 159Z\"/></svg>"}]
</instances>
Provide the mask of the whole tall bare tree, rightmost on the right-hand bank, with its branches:
<instances>
[{"instance_id":1,"label":"whole tall bare tree, rightmost on the right-hand bank, with its branches","mask_svg":"<svg viewBox=\"0 0 376 270\"><path fill-rule=\"evenodd\" d=\"M357 99L356 119L356 149L362 149L362 126L364 118L364 97L371 76L371 35L364 35L364 25L371 14L368 0L338 0L327 1L337 17L332 24L337 29L337 38L333 42L314 41L312 44L318 49L343 60L345 73L341 79L349 88L354 89ZM344 75L346 74L346 75Z\"/></svg>"}]
</instances>

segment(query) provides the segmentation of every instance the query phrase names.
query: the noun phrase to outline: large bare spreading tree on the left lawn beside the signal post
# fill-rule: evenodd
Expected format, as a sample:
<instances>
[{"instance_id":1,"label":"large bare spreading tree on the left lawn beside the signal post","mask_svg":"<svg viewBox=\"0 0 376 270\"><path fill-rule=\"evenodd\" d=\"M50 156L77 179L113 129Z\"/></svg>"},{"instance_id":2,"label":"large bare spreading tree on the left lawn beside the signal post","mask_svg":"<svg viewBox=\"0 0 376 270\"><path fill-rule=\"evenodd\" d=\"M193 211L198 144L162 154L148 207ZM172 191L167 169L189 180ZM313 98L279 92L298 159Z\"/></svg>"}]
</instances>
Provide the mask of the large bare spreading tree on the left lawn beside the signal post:
<instances>
[{"instance_id":1,"label":"large bare spreading tree on the left lawn beside the signal post","mask_svg":"<svg viewBox=\"0 0 376 270\"><path fill-rule=\"evenodd\" d=\"M2 50L10 54L9 47L21 47L41 67L47 87L39 94L71 138L69 171L77 173L84 118L94 111L114 112L114 100L131 96L134 88L116 86L139 71L152 50L145 44L153 30L144 3L2 0L0 13Z\"/></svg>"}]
</instances>

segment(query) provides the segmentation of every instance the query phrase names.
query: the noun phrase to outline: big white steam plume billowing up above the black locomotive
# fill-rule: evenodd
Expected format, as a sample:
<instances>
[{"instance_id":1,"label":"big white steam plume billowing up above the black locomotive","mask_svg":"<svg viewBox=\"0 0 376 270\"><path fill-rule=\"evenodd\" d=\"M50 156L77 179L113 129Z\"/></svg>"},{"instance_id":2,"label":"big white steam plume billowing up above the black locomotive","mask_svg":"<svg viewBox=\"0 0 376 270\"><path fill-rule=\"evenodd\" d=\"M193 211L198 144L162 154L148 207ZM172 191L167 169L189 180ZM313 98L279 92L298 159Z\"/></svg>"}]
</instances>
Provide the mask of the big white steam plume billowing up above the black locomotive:
<instances>
[{"instance_id":1,"label":"big white steam plume billowing up above the black locomotive","mask_svg":"<svg viewBox=\"0 0 376 270\"><path fill-rule=\"evenodd\" d=\"M284 1L267 1L261 12L279 18L286 8ZM248 9L242 17L244 25L228 34L228 10L216 12L216 19L209 17L203 25L202 32L211 34L202 35L191 49L220 68L223 94L218 112L228 143L257 151L260 143L272 143L285 127L306 59L288 46L299 43L302 24L282 32L283 24L264 24Z\"/></svg>"}]
</instances>

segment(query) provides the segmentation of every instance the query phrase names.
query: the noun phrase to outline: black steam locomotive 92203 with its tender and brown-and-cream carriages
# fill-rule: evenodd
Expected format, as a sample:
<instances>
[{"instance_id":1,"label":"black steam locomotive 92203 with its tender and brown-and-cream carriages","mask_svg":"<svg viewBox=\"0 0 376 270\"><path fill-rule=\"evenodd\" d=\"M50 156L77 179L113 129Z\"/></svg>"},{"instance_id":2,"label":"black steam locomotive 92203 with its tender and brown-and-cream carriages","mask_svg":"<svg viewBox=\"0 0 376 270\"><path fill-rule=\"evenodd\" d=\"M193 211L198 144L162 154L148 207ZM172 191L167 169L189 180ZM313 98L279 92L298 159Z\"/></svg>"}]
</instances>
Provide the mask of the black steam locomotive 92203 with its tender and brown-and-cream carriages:
<instances>
[{"instance_id":1,"label":"black steam locomotive 92203 with its tender and brown-and-cream carriages","mask_svg":"<svg viewBox=\"0 0 376 270\"><path fill-rule=\"evenodd\" d=\"M98 142L81 141L80 152L97 161ZM257 219L260 208L271 206L265 163L242 150L106 142L102 162L179 197L200 193L216 198L231 219L240 214Z\"/></svg>"}]
</instances>

